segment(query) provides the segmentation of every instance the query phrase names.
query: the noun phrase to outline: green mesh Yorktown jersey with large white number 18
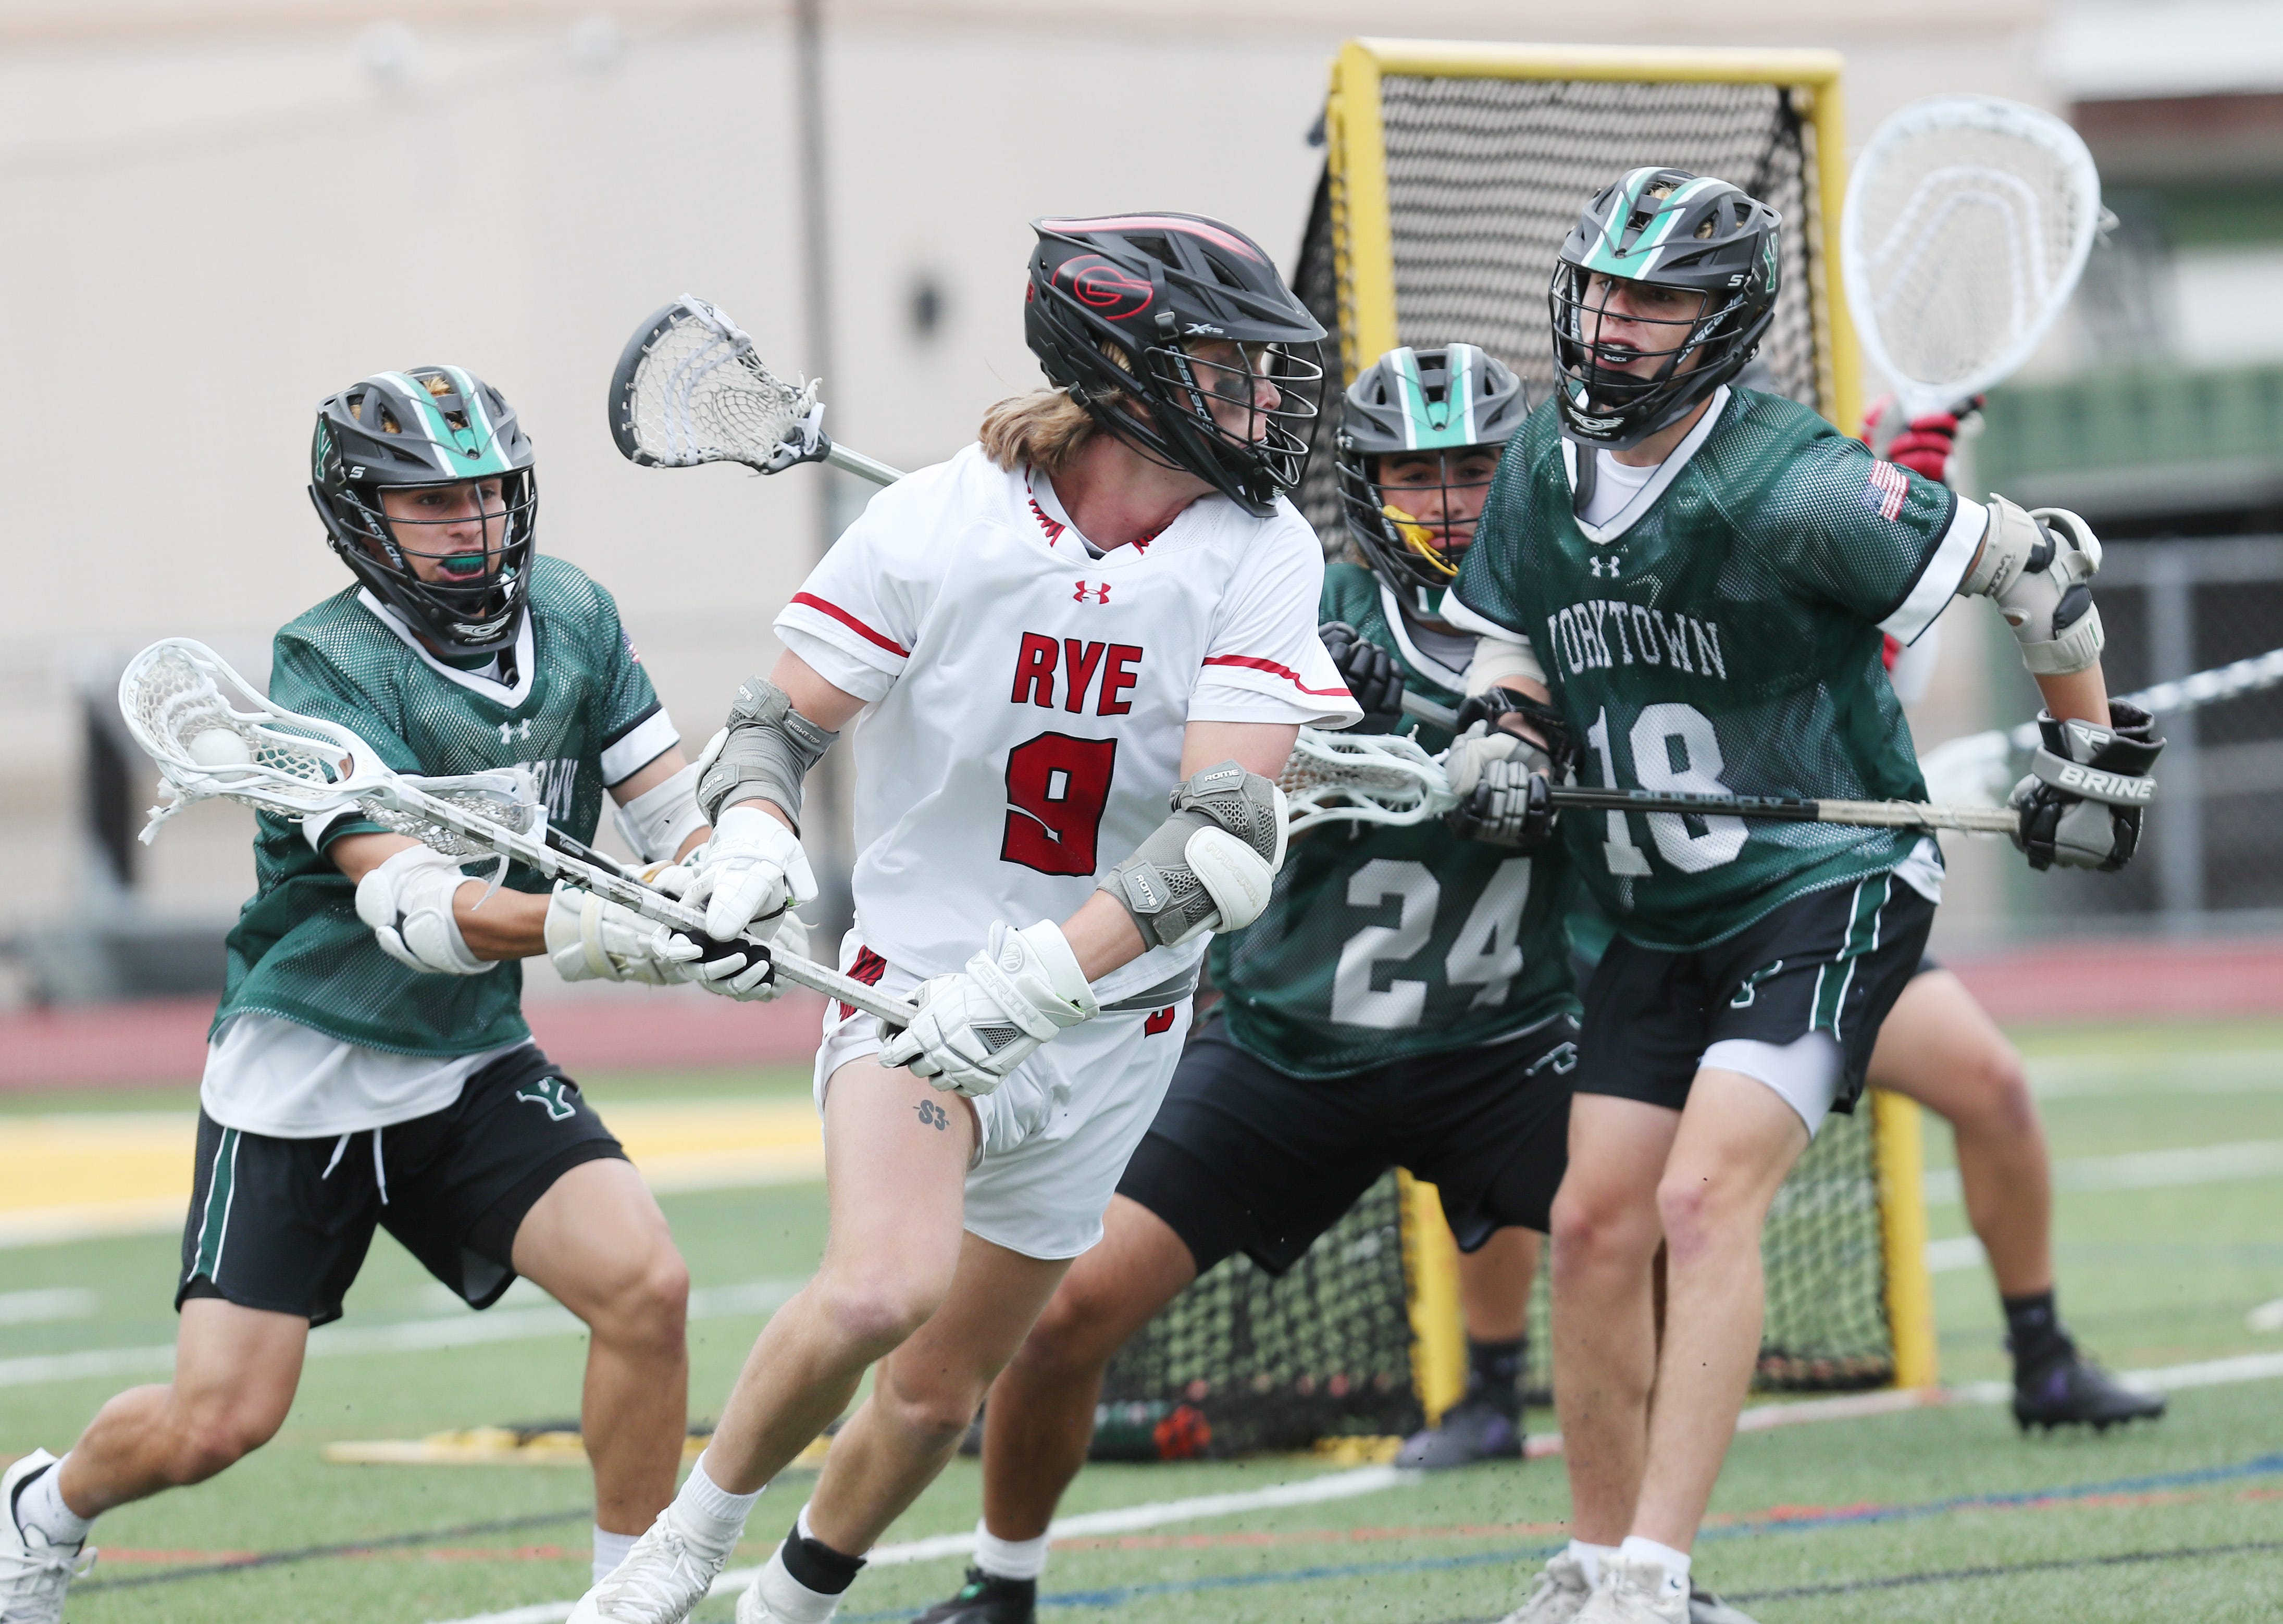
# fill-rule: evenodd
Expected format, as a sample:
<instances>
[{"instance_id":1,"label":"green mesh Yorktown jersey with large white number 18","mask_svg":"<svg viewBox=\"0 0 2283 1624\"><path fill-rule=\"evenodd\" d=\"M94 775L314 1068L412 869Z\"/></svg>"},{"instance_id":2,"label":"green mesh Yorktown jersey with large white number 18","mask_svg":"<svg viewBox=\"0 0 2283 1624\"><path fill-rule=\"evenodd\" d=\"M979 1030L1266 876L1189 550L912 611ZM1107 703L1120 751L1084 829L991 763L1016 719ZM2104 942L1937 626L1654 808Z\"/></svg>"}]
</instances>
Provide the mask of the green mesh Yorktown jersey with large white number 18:
<instances>
[{"instance_id":1,"label":"green mesh Yorktown jersey with large white number 18","mask_svg":"<svg viewBox=\"0 0 2283 1624\"><path fill-rule=\"evenodd\" d=\"M1925 798L1879 648L1881 627L1918 636L1973 557L1975 515L1947 488L1751 390L1596 534L1571 511L1573 454L1552 404L1532 413L1457 593L1532 641L1582 782ZM1616 928L1673 951L1893 869L1920 839L1673 812L1571 812L1564 828Z\"/></svg>"}]
</instances>

